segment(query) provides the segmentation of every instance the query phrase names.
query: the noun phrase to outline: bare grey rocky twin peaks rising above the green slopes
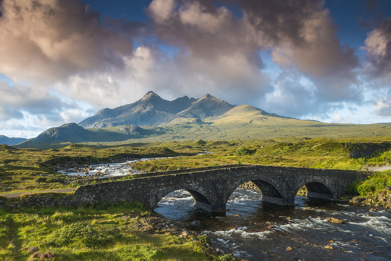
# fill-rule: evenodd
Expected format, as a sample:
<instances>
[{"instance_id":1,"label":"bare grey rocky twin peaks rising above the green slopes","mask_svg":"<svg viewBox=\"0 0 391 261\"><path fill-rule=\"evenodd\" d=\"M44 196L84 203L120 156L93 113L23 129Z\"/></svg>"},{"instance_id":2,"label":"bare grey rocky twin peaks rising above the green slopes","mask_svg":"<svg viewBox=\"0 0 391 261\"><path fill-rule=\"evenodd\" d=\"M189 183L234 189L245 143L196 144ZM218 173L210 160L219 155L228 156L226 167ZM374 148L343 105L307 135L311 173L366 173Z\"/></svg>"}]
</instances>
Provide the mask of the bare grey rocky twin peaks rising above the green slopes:
<instances>
[{"instance_id":1,"label":"bare grey rocky twin peaks rising above the green slopes","mask_svg":"<svg viewBox=\"0 0 391 261\"><path fill-rule=\"evenodd\" d=\"M183 96L173 101L162 99L150 91L140 100L114 109L104 108L79 122L84 128L102 128L118 125L160 126L178 118L206 119L231 110L231 105L210 94L199 99Z\"/></svg>"}]
</instances>

